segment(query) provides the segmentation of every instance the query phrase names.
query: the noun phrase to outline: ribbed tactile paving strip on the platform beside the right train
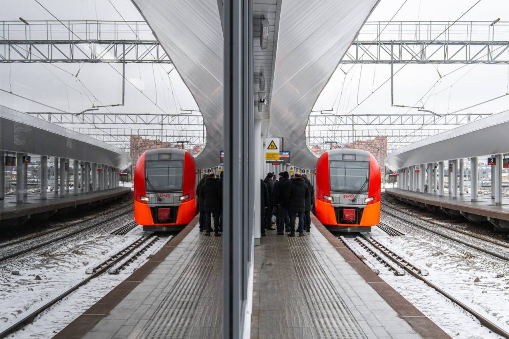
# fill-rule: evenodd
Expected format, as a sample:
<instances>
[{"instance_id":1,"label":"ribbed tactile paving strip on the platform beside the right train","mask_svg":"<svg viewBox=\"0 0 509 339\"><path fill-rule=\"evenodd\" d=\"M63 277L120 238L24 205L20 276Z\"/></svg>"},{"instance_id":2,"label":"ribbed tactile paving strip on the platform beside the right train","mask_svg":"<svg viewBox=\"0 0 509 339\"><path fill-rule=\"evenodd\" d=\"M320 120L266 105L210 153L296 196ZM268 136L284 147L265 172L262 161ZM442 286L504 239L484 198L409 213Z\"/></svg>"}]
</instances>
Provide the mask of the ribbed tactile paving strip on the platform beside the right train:
<instances>
[{"instance_id":1,"label":"ribbed tactile paving strip on the platform beside the right train","mask_svg":"<svg viewBox=\"0 0 509 339\"><path fill-rule=\"evenodd\" d=\"M299 284L319 337L365 338L306 239L288 238L288 241Z\"/></svg>"}]
</instances>

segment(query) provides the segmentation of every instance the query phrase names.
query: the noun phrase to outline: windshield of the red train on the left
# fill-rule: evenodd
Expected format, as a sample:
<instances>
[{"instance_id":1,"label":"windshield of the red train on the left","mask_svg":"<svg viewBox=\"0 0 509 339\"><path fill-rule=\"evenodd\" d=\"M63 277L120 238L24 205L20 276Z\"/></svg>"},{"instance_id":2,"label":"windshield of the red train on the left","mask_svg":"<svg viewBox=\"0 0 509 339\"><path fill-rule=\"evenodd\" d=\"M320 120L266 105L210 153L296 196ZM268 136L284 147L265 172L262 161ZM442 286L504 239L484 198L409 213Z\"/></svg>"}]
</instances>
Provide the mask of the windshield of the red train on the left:
<instances>
[{"instance_id":1,"label":"windshield of the red train on the left","mask_svg":"<svg viewBox=\"0 0 509 339\"><path fill-rule=\"evenodd\" d=\"M184 160L145 161L147 192L174 192L182 190Z\"/></svg>"}]
</instances>

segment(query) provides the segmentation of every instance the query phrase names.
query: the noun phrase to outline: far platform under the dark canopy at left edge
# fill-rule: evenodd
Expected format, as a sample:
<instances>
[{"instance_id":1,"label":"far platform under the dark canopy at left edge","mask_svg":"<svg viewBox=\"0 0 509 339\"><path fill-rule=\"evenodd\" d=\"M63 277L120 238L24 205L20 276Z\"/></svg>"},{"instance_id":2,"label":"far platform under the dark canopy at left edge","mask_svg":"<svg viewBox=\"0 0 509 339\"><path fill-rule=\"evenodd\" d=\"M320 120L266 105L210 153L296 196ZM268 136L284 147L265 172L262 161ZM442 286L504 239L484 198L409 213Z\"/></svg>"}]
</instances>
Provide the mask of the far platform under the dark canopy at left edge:
<instances>
[{"instance_id":1,"label":"far platform under the dark canopy at left edge","mask_svg":"<svg viewBox=\"0 0 509 339\"><path fill-rule=\"evenodd\" d=\"M44 219L54 213L115 199L130 191L130 187L117 187L77 195L71 192L64 197L48 193L46 200L41 200L39 194L27 194L23 203L16 203L16 195L6 195L4 200L0 200L0 225L22 223L30 218Z\"/></svg>"}]
</instances>

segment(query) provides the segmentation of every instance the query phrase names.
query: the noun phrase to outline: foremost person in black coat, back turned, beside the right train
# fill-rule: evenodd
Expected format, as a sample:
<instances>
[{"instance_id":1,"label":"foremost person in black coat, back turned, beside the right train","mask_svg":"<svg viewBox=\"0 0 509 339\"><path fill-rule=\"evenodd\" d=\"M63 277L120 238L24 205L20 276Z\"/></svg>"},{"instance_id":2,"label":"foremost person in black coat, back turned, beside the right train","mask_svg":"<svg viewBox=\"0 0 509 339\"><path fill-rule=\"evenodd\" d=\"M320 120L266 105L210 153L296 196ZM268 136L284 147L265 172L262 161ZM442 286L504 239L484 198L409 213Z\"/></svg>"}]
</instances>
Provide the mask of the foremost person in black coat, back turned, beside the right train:
<instances>
[{"instance_id":1,"label":"foremost person in black coat, back turned, beside the right train","mask_svg":"<svg viewBox=\"0 0 509 339\"><path fill-rule=\"evenodd\" d=\"M296 173L291 185L287 191L290 211L290 234L289 237L295 237L295 218L299 217L299 236L304 236L304 211L306 209L306 200L309 199L309 188L307 188L304 178L300 173Z\"/></svg>"}]
</instances>

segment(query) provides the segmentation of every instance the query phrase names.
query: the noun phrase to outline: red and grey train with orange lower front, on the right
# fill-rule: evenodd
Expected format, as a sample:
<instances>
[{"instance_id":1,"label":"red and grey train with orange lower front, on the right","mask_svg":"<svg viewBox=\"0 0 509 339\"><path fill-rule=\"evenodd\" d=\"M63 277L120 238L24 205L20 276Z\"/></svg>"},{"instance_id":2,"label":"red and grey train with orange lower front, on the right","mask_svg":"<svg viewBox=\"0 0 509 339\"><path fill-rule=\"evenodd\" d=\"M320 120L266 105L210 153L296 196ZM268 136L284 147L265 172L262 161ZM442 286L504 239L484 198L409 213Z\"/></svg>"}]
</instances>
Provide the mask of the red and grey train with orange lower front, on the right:
<instances>
[{"instance_id":1,"label":"red and grey train with orange lower front, on the right","mask_svg":"<svg viewBox=\"0 0 509 339\"><path fill-rule=\"evenodd\" d=\"M367 151L330 150L316 166L315 214L330 230L369 232L380 221L380 166Z\"/></svg>"}]
</instances>

